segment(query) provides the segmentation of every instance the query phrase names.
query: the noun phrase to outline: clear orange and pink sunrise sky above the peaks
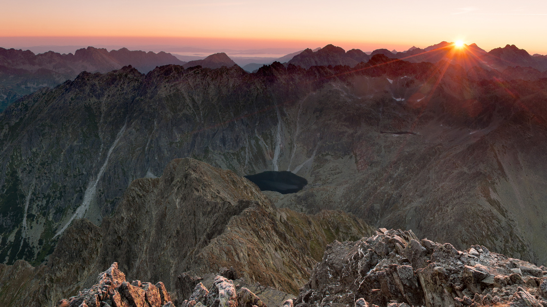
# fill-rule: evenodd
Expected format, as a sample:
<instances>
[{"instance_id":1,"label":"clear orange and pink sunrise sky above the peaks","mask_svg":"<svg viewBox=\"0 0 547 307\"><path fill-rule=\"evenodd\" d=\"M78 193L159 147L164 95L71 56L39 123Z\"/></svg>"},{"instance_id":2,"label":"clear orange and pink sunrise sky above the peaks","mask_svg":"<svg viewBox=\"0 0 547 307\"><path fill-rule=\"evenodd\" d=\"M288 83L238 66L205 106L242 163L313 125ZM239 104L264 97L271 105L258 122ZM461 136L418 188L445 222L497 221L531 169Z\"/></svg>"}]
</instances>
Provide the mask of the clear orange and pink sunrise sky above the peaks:
<instances>
[{"instance_id":1,"label":"clear orange and pink sunrise sky above the peaks","mask_svg":"<svg viewBox=\"0 0 547 307\"><path fill-rule=\"evenodd\" d=\"M372 51L463 40L547 54L545 0L0 0L0 46L171 45Z\"/></svg>"}]
</instances>

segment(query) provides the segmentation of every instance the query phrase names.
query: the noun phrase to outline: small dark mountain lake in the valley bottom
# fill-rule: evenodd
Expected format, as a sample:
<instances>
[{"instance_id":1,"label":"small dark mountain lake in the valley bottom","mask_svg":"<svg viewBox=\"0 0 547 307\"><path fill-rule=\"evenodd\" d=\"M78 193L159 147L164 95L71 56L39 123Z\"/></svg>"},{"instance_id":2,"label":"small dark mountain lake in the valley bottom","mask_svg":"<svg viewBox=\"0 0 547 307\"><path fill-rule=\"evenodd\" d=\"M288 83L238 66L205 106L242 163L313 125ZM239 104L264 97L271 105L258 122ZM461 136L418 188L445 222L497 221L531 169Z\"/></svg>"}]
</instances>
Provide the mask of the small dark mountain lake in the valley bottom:
<instances>
[{"instance_id":1,"label":"small dark mountain lake in the valley bottom","mask_svg":"<svg viewBox=\"0 0 547 307\"><path fill-rule=\"evenodd\" d=\"M244 176L260 188L260 191L275 191L281 194L296 193L307 185L306 178L282 170L267 170L266 172Z\"/></svg>"}]
</instances>

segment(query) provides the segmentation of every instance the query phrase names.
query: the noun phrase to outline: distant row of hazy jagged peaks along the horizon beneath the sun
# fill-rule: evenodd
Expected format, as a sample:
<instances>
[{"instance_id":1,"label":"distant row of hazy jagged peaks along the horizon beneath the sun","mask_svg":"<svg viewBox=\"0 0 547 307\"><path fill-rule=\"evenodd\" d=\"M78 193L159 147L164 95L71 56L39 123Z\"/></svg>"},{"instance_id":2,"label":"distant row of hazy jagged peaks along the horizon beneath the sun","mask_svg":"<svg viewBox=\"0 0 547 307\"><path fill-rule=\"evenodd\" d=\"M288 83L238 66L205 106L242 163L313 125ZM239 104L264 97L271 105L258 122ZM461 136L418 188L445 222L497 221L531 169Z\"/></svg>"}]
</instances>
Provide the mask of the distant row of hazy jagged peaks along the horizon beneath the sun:
<instances>
[{"instance_id":1,"label":"distant row of hazy jagged peaks along the horizon beneath the sun","mask_svg":"<svg viewBox=\"0 0 547 307\"><path fill-rule=\"evenodd\" d=\"M334 45L314 50L306 49L293 52L277 58L277 62L294 64L303 68L311 66L356 66L360 62L366 63L370 57L383 54L389 58L403 59L409 62L450 61L459 64L465 69L482 67L487 70L504 70L508 67L530 67L532 75L541 75L547 70L547 57L542 55L530 56L526 50L518 49L515 45L496 48L490 52L480 49L476 44L466 46L461 51L452 48L453 43L441 42L425 49L412 47L404 52L392 52L387 49L377 49L370 55L359 49L345 51ZM178 50L178 49L177 49ZM273 63L274 61L270 62ZM203 60L183 62L176 56L163 51L154 52L129 51L127 48L112 50L88 47L72 54L59 54L53 51L34 55L31 51L0 48L0 111L5 109L23 95L27 95L44 86L56 86L65 80L74 79L82 71L106 73L113 69L131 65L139 72L148 73L156 66L178 64L185 68L200 65L208 68L230 67L236 64L224 52L208 56ZM247 72L255 72L264 64L250 63L243 66ZM527 78L527 77L524 77Z\"/></svg>"}]
</instances>

